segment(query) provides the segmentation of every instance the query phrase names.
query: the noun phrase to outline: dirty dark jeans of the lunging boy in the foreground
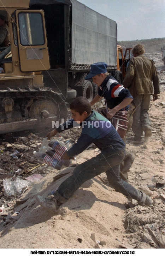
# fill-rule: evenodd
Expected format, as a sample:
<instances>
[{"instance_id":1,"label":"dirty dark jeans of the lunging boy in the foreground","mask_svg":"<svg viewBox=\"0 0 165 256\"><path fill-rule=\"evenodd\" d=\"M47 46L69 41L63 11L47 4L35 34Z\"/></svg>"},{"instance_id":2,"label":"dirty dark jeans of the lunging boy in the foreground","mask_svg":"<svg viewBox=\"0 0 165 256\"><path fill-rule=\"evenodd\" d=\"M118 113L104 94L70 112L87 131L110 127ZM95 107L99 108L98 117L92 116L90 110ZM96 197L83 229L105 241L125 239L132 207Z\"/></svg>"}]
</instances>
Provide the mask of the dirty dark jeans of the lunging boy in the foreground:
<instances>
[{"instance_id":1,"label":"dirty dark jeans of the lunging boy in the foreground","mask_svg":"<svg viewBox=\"0 0 165 256\"><path fill-rule=\"evenodd\" d=\"M54 197L60 203L65 203L85 181L106 172L109 184L116 191L137 201L141 200L142 193L126 181L120 179L120 163L124 156L125 150L104 156L100 153L96 157L79 164L72 175L63 181L58 190L53 193Z\"/></svg>"}]
</instances>

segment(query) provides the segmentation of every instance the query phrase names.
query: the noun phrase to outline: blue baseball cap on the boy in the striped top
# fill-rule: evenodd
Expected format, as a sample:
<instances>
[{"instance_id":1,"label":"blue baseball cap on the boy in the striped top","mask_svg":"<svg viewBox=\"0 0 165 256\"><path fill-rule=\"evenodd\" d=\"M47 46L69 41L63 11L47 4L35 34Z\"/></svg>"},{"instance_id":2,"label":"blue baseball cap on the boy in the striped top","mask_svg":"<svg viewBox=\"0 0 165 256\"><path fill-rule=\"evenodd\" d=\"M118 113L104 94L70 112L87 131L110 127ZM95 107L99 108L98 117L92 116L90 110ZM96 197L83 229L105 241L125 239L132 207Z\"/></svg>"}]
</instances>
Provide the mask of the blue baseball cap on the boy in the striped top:
<instances>
[{"instance_id":1,"label":"blue baseball cap on the boy in the striped top","mask_svg":"<svg viewBox=\"0 0 165 256\"><path fill-rule=\"evenodd\" d=\"M101 73L107 72L107 66L105 62L96 62L90 65L90 71L89 74L86 76L85 79L92 78L93 76L96 76Z\"/></svg>"}]
</instances>

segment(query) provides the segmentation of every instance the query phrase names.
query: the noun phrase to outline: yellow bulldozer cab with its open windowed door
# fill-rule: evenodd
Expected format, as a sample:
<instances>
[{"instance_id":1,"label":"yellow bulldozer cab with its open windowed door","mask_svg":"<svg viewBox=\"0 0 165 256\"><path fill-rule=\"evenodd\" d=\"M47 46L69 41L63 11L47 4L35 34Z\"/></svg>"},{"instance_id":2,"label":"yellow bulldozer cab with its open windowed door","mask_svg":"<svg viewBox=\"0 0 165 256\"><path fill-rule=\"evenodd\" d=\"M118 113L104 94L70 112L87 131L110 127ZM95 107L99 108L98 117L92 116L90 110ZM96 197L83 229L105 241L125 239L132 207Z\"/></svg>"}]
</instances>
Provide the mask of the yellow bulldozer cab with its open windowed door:
<instances>
[{"instance_id":1,"label":"yellow bulldozer cab with its open windowed door","mask_svg":"<svg viewBox=\"0 0 165 256\"><path fill-rule=\"evenodd\" d=\"M49 70L44 12L12 7L11 13L11 7L3 9L0 6L0 14L6 17L10 34L10 46L0 48L0 65L4 72L18 75L16 66L20 72L28 73Z\"/></svg>"}]
</instances>

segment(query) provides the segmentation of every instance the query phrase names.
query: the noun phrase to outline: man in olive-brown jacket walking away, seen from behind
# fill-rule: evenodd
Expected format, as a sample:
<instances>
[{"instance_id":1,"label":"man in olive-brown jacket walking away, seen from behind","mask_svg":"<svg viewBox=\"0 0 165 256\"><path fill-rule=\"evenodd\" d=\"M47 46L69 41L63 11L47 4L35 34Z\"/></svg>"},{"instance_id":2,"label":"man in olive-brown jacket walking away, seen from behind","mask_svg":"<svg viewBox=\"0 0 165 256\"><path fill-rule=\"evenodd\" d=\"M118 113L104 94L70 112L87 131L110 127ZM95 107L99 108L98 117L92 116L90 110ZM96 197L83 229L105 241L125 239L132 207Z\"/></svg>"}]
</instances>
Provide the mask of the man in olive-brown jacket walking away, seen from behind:
<instances>
[{"instance_id":1,"label":"man in olive-brown jacket walking away, seen from behind","mask_svg":"<svg viewBox=\"0 0 165 256\"><path fill-rule=\"evenodd\" d=\"M124 87L129 89L134 98L132 103L134 103L135 107L139 105L132 121L132 131L135 134L134 140L137 141L142 140L143 131L146 138L152 136L152 126L148 115L149 103L151 94L153 94L153 100L157 100L160 93L159 77L154 61L147 58L144 53L143 45L135 45L132 49L134 58L129 61L128 70L124 78Z\"/></svg>"}]
</instances>

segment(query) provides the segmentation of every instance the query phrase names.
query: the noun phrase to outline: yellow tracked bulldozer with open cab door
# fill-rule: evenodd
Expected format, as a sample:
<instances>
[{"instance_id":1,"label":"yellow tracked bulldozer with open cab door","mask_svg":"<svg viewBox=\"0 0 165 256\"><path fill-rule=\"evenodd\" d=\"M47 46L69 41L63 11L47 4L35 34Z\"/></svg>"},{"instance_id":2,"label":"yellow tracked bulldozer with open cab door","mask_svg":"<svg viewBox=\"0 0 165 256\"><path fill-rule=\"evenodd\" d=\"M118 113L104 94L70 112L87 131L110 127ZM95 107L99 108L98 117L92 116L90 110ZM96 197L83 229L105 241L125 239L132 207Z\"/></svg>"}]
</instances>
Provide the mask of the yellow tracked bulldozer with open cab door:
<instances>
[{"instance_id":1,"label":"yellow tracked bulldozer with open cab door","mask_svg":"<svg viewBox=\"0 0 165 256\"><path fill-rule=\"evenodd\" d=\"M60 93L43 86L41 71L50 68L44 12L29 10L29 0L1 0L0 17L10 36L0 47L0 136L51 128L67 108Z\"/></svg>"}]
</instances>

